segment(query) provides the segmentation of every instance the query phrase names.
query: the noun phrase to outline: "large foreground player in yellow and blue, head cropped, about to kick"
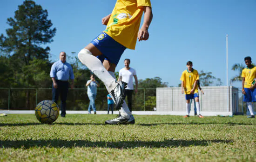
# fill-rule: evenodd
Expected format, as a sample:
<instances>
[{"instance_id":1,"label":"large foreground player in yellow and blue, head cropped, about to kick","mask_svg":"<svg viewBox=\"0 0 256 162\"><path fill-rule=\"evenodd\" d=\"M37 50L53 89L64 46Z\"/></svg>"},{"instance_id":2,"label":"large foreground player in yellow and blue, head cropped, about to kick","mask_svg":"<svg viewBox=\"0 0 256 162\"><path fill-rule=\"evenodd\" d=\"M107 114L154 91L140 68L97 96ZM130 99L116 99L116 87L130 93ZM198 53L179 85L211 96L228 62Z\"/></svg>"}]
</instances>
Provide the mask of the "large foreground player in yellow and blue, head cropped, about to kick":
<instances>
[{"instance_id":1,"label":"large foreground player in yellow and blue, head cropped, about to kick","mask_svg":"<svg viewBox=\"0 0 256 162\"><path fill-rule=\"evenodd\" d=\"M144 21L139 30L143 12ZM79 60L103 81L115 107L121 108L121 115L107 120L106 124L135 123L123 100L126 83L116 81L115 67L126 48L135 50L137 39L148 40L152 18L150 0L117 0L112 13L102 19L102 24L107 25L106 30L78 53Z\"/></svg>"}]
</instances>

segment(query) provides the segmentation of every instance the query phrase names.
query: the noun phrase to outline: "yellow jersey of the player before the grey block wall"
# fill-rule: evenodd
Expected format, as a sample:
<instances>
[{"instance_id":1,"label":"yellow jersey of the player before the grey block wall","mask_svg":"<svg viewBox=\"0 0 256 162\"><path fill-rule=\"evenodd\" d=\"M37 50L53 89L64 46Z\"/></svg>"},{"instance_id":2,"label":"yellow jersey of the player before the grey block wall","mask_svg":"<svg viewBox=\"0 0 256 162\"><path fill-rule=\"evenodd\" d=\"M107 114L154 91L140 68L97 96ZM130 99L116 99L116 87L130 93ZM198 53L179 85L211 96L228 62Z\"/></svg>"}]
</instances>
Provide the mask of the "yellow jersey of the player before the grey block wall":
<instances>
[{"instance_id":1,"label":"yellow jersey of the player before the grey block wall","mask_svg":"<svg viewBox=\"0 0 256 162\"><path fill-rule=\"evenodd\" d=\"M191 89L194 87L195 81L199 80L199 75L197 70L192 69L191 72L189 70L184 70L182 72L181 81L184 81L184 92L185 94L190 94ZM196 84L195 92L198 93L198 86Z\"/></svg>"}]
</instances>

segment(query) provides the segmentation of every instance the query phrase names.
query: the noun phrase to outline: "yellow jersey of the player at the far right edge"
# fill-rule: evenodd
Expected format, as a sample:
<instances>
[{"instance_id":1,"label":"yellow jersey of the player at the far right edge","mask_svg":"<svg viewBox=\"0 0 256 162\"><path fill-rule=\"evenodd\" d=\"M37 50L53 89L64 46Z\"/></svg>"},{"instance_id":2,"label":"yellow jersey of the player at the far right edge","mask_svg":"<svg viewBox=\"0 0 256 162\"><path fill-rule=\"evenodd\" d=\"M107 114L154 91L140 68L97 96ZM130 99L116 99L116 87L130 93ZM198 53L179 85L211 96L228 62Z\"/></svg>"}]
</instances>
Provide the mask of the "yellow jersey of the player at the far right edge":
<instances>
[{"instance_id":1,"label":"yellow jersey of the player at the far right edge","mask_svg":"<svg viewBox=\"0 0 256 162\"><path fill-rule=\"evenodd\" d=\"M249 68L245 68L242 71L242 75L243 78L245 78L244 81L244 88L249 88L252 85L252 82L254 81L254 79L256 78L256 66L249 69Z\"/></svg>"}]
</instances>

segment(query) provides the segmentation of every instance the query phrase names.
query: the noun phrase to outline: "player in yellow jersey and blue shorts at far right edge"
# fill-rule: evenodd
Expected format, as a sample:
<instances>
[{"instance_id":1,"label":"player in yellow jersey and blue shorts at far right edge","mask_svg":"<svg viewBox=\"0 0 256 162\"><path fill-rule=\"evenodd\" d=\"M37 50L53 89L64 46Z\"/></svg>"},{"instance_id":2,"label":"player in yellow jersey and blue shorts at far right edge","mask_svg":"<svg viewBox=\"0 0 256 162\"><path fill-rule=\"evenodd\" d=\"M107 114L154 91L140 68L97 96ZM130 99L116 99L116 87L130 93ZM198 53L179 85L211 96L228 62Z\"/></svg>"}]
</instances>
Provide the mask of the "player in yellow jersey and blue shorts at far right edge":
<instances>
[{"instance_id":1,"label":"player in yellow jersey and blue shorts at far right edge","mask_svg":"<svg viewBox=\"0 0 256 162\"><path fill-rule=\"evenodd\" d=\"M243 69L242 71L243 101L246 102L251 114L247 118L255 118L252 102L256 102L256 67L251 64L251 57L249 56L244 58L244 62L247 65L247 68Z\"/></svg>"}]
</instances>

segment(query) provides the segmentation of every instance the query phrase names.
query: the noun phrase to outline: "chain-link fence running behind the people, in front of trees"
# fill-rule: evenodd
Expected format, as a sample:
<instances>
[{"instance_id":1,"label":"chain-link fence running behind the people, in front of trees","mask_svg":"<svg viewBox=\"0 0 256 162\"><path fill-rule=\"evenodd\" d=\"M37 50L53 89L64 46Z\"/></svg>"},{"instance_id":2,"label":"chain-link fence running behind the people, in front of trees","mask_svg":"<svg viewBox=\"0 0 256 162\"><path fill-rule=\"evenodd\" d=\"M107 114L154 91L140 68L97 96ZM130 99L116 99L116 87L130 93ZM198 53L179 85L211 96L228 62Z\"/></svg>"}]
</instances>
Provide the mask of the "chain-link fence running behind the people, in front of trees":
<instances>
[{"instance_id":1,"label":"chain-link fence running behind the people, in front of trees","mask_svg":"<svg viewBox=\"0 0 256 162\"><path fill-rule=\"evenodd\" d=\"M97 89L96 109L105 111L108 108L107 90ZM177 94L180 95L180 94ZM201 94L202 95L202 94ZM211 94L207 94L211 95ZM242 88L238 88L238 100L233 100L233 112L245 114L246 103L243 102ZM204 98L201 98L203 100ZM42 100L52 100L52 88L0 88L0 110L34 110ZM185 100L180 101L180 105ZM217 101L216 101L217 102ZM235 103L236 102L236 103ZM60 104L60 100L57 104ZM69 89L67 94L67 110L88 110L89 99L87 88ZM154 111L156 107L156 88L139 88L133 95L133 111ZM203 109L203 107L202 107ZM254 103L256 112L256 103Z\"/></svg>"}]
</instances>

